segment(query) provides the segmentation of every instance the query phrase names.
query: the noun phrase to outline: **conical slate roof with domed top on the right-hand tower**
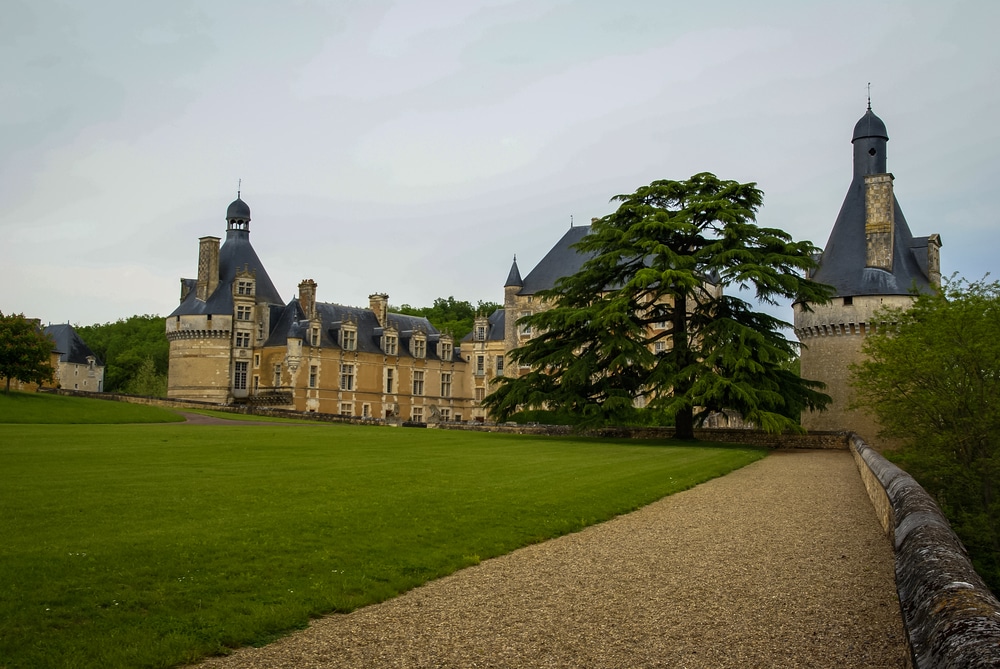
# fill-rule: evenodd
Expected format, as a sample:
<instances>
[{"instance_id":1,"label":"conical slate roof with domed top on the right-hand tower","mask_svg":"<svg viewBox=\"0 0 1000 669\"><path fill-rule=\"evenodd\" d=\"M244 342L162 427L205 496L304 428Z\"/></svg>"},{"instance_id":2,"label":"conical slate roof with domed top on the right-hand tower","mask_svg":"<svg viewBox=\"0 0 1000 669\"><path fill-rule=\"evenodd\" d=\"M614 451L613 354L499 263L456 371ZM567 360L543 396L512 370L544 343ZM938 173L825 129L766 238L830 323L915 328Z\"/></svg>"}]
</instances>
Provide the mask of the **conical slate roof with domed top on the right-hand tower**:
<instances>
[{"instance_id":1,"label":"conical slate roof with domed top on the right-hand tower","mask_svg":"<svg viewBox=\"0 0 1000 669\"><path fill-rule=\"evenodd\" d=\"M871 145L873 150L879 152L880 160L868 158L867 151L855 151L854 179L820 256L820 265L811 278L833 286L837 297L906 295L914 286L920 292L929 292L928 238L913 236L895 196L892 271L866 266L864 177L880 173L877 171L879 167L884 169L885 142L888 141L885 124L869 109L855 125L851 141L863 142L863 147Z\"/></svg>"}]
</instances>

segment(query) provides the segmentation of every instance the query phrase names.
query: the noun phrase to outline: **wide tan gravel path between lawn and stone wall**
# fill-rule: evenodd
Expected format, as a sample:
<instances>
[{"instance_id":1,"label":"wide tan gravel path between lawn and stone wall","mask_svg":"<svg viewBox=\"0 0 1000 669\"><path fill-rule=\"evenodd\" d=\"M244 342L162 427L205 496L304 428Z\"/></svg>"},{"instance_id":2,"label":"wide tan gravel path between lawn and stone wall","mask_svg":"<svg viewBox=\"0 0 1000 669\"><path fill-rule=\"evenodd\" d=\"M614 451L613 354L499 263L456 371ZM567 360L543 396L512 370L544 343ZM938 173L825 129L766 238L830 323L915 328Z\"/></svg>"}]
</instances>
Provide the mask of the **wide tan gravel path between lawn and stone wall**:
<instances>
[{"instance_id":1,"label":"wide tan gravel path between lawn and stone wall","mask_svg":"<svg viewBox=\"0 0 1000 669\"><path fill-rule=\"evenodd\" d=\"M775 452L209 667L904 667L846 451Z\"/></svg>"}]
</instances>

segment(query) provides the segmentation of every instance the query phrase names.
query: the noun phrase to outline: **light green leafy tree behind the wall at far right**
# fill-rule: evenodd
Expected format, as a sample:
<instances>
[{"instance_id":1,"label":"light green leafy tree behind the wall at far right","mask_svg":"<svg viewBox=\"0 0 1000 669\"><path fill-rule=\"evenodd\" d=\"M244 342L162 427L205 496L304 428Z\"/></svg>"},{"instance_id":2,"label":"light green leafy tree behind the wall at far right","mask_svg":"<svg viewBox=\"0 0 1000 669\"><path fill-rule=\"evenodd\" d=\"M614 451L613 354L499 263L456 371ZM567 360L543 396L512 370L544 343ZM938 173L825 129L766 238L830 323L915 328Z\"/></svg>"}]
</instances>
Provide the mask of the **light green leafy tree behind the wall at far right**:
<instances>
[{"instance_id":1,"label":"light green leafy tree behind the wall at far right","mask_svg":"<svg viewBox=\"0 0 1000 669\"><path fill-rule=\"evenodd\" d=\"M856 402L1000 592L1000 283L953 277L874 320L893 326L865 338Z\"/></svg>"}]
</instances>

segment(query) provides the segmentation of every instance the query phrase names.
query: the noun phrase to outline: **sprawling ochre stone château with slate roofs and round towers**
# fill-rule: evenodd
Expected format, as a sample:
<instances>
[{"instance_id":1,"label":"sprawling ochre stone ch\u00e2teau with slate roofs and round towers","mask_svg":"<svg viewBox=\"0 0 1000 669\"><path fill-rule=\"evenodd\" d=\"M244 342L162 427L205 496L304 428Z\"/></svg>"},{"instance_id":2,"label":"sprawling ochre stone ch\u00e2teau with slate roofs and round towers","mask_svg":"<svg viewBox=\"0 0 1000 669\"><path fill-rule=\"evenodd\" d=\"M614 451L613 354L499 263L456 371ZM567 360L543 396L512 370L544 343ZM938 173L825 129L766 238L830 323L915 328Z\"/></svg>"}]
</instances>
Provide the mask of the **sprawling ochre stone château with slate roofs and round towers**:
<instances>
[{"instance_id":1,"label":"sprawling ochre stone ch\u00e2teau with slate roofs and round towers","mask_svg":"<svg viewBox=\"0 0 1000 669\"><path fill-rule=\"evenodd\" d=\"M811 276L832 285L834 298L811 310L793 305L802 375L833 397L828 411L803 416L808 429L874 439L872 420L850 408L849 366L880 327L878 308L905 306L912 289L940 284L940 238L910 233L886 172L887 141L869 106L854 128L851 186ZM180 305L167 318L168 396L414 422L486 420L480 403L491 381L522 371L508 354L532 332L517 321L546 308L539 291L580 269L586 257L573 245L590 231L571 227L523 278L515 258L504 307L456 342L424 318L390 313L385 293L348 307L318 301L305 279L284 303L250 244L250 207L239 196L226 221L221 248L218 237L200 239L198 277L181 279Z\"/></svg>"}]
</instances>

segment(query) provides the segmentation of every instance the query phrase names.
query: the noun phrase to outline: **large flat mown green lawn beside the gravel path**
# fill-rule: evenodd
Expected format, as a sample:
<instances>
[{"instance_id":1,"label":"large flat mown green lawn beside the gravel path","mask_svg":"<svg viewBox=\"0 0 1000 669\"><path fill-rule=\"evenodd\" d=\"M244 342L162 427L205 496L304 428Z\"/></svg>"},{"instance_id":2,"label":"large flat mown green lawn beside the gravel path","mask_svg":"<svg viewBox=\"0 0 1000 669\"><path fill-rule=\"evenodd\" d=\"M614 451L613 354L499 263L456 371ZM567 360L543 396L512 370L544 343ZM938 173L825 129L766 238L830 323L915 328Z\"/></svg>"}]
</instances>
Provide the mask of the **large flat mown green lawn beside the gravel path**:
<instances>
[{"instance_id":1,"label":"large flat mown green lawn beside the gravel path","mask_svg":"<svg viewBox=\"0 0 1000 669\"><path fill-rule=\"evenodd\" d=\"M749 448L0 425L0 667L168 667L611 518Z\"/></svg>"}]
</instances>

